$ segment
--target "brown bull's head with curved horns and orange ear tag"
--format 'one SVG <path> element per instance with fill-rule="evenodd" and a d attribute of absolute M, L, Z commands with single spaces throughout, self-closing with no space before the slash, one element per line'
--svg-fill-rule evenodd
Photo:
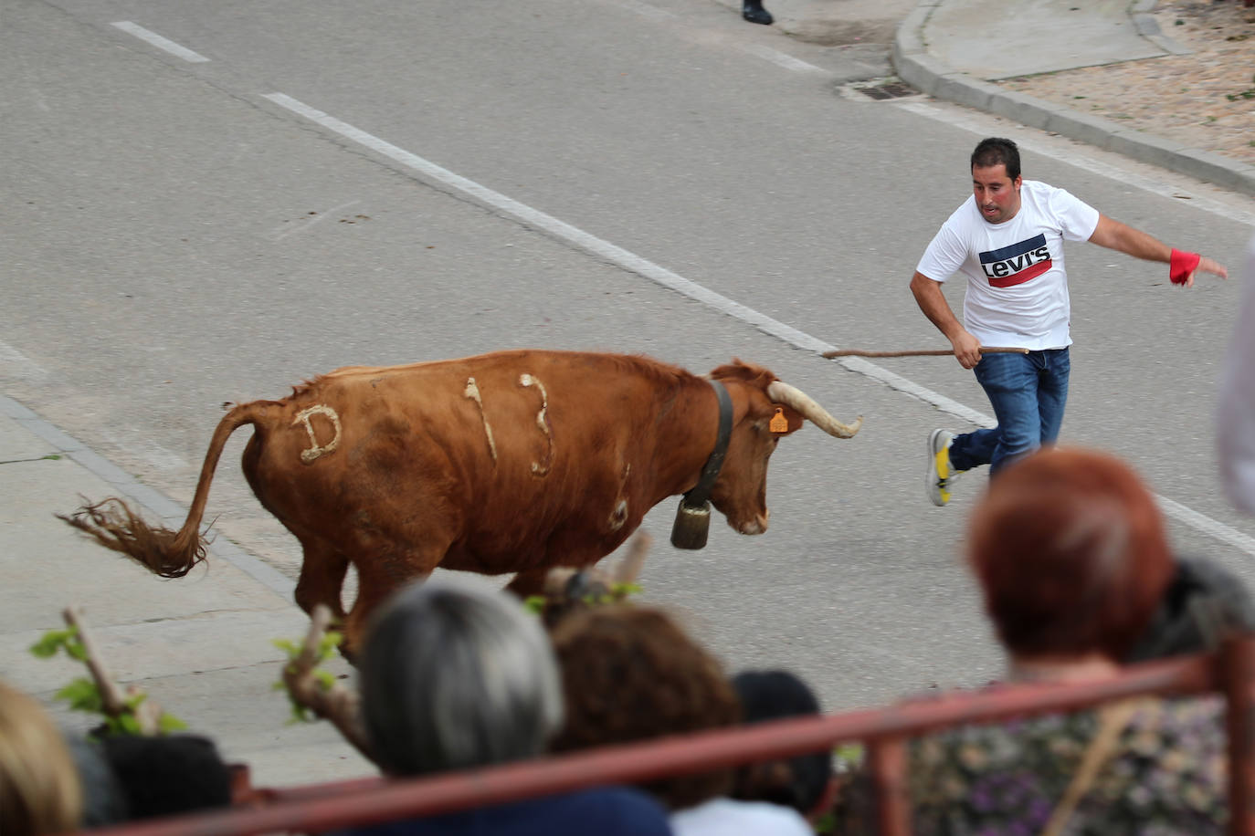
<path fill-rule="evenodd" d="M 767 462 L 781 436 L 802 429 L 804 420 L 838 439 L 852 437 L 862 416 L 852 425 L 832 417 L 806 392 L 776 379 L 759 366 L 733 360 L 710 372 L 728 389 L 733 401 L 732 439 L 710 501 L 742 534 L 767 530 Z"/>

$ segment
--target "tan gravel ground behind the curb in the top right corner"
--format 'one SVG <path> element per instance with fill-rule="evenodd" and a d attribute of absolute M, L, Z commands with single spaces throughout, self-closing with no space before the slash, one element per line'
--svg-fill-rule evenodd
<path fill-rule="evenodd" d="M 1152 13 L 1165 35 L 1192 50 L 1103 66 L 1008 79 L 1048 102 L 1255 164 L 1255 6 L 1178 0 Z"/>

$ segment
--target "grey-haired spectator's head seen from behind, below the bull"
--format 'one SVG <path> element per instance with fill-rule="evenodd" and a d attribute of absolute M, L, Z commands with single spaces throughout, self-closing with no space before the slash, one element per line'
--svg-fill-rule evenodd
<path fill-rule="evenodd" d="M 562 721 L 548 638 L 499 592 L 405 588 L 374 618 L 360 678 L 366 734 L 392 775 L 533 757 Z"/>

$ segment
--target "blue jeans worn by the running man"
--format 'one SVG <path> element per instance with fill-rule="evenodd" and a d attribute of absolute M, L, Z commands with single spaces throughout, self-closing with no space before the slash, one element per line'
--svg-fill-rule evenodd
<path fill-rule="evenodd" d="M 954 436 L 950 464 L 956 470 L 989 465 L 993 476 L 1018 456 L 1054 444 L 1068 401 L 1071 370 L 1067 348 L 981 357 L 974 371 L 998 426 Z"/>

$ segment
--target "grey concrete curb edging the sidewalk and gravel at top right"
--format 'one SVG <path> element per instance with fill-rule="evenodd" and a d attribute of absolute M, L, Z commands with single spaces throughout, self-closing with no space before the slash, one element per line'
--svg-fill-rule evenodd
<path fill-rule="evenodd" d="M 954 70 L 930 55 L 924 40 L 924 26 L 932 13 L 945 3 L 946 0 L 920 0 L 897 28 L 891 59 L 897 76 L 911 86 L 937 99 L 985 110 L 1014 119 L 1029 128 L 1049 130 L 1131 159 L 1255 196 L 1255 165 L 1141 130 L 1130 130 L 1109 119 L 1043 102 L 1023 93 L 1004 90 L 996 84 Z M 1156 0 L 1138 0 L 1132 6 L 1135 26 L 1156 45 L 1170 53 L 1181 54 L 1185 50 L 1160 34 L 1155 19 L 1146 14 L 1155 5 Z"/>

